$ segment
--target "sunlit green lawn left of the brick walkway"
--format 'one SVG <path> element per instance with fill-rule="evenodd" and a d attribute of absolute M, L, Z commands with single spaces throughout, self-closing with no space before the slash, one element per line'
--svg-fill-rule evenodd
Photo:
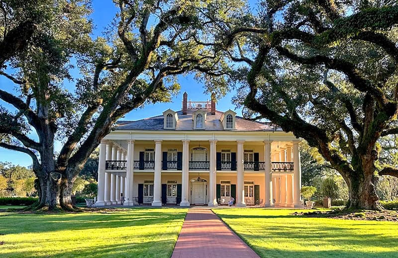
<path fill-rule="evenodd" d="M 179 208 L 0 213 L 0 257 L 168 258 L 186 213 Z"/>

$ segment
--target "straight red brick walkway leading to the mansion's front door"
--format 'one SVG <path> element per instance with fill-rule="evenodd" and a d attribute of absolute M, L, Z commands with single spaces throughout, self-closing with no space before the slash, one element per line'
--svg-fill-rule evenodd
<path fill-rule="evenodd" d="M 233 233 L 210 209 L 188 210 L 172 258 L 259 256 Z"/>

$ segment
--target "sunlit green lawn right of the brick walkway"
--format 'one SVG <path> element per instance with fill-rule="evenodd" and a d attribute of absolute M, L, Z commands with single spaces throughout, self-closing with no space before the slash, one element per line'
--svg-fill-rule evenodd
<path fill-rule="evenodd" d="M 294 210 L 213 211 L 261 257 L 398 257 L 398 222 L 304 218 L 290 215 Z"/>

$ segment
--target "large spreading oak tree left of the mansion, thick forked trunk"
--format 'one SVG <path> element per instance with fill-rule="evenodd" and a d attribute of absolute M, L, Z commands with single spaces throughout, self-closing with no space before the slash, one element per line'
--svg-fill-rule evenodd
<path fill-rule="evenodd" d="M 206 2 L 115 0 L 119 11 L 106 38 L 95 40 L 89 0 L 48 0 L 34 6 L 14 2 L 1 1 L 1 44 L 15 49 L 15 55 L 0 53 L 0 61 L 8 65 L 0 73 L 10 81 L 1 86 L 0 99 L 14 108 L 0 110 L 0 147 L 31 157 L 40 188 L 33 208 L 73 209 L 73 182 L 101 139 L 127 112 L 170 100 L 179 88 L 176 75 L 196 71 L 207 81 L 224 83 L 219 72 L 224 64 L 191 37 L 200 34 L 196 10 Z M 36 30 L 26 32 L 24 24 L 10 24 L 6 18 L 17 8 L 46 15 L 42 23 L 33 22 Z M 12 30 L 27 34 L 24 46 L 7 43 Z M 80 76 L 73 78 L 71 71 L 77 70 Z M 70 91 L 65 82 L 73 79 L 77 83 Z M 56 140 L 62 142 L 59 153 L 54 152 Z"/>

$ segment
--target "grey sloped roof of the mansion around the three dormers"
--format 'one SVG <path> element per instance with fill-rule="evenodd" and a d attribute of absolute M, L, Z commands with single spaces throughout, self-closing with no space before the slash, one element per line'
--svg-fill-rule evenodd
<path fill-rule="evenodd" d="M 164 129 L 163 115 L 149 117 L 137 121 L 118 121 L 115 130 L 146 130 L 146 131 L 282 131 L 270 123 L 251 121 L 240 116 L 235 116 L 235 129 L 224 130 L 220 121 L 223 114 L 221 111 L 215 111 L 215 115 L 206 112 L 205 129 L 194 129 L 192 113 L 195 110 L 188 110 L 186 115 L 183 111 L 177 111 L 178 121 L 176 129 Z"/>

